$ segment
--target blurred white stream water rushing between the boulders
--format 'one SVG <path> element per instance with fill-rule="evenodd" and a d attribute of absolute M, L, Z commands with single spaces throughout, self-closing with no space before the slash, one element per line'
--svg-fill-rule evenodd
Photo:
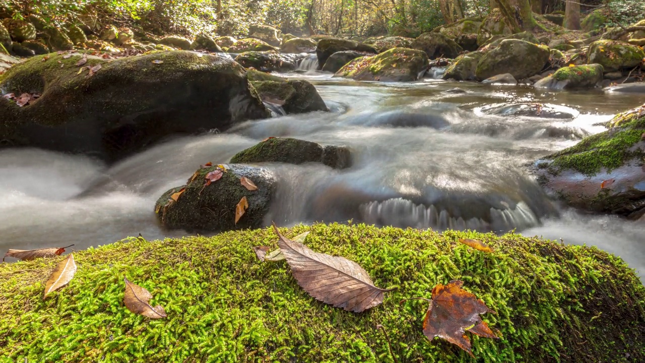
<path fill-rule="evenodd" d="M 527 166 L 600 132 L 598 123 L 642 104 L 641 97 L 435 79 L 355 82 L 312 71 L 313 63 L 313 57 L 303 59 L 301 70 L 288 76 L 312 81 L 333 112 L 175 138 L 111 167 L 45 150 L 1 150 L 0 250 L 83 249 L 139 233 L 149 239 L 185 235 L 155 222 L 154 203 L 164 191 L 207 161 L 226 163 L 268 136 L 290 136 L 348 145 L 353 165 L 342 171 L 268 165 L 281 183 L 267 223 L 353 219 L 495 233 L 515 229 L 596 245 L 645 276 L 642 223 L 559 206 Z"/>

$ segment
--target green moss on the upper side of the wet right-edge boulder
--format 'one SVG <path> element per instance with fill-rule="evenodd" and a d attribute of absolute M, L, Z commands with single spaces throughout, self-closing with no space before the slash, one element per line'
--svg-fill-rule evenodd
<path fill-rule="evenodd" d="M 644 132 L 645 116 L 639 116 L 638 112 L 619 114 L 611 121 L 609 130 L 548 156 L 546 159 L 553 159 L 550 171 L 573 169 L 589 176 L 603 169 L 610 172 L 628 160 L 645 156 L 639 149 L 630 149 L 642 140 Z"/>

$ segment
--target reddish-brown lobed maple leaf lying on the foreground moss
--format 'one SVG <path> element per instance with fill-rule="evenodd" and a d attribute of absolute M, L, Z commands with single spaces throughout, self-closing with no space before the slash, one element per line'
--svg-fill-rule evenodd
<path fill-rule="evenodd" d="M 488 309 L 474 294 L 462 289 L 463 284 L 463 281 L 453 280 L 448 285 L 437 284 L 432 289 L 432 302 L 423 320 L 423 334 L 429 340 L 435 337 L 448 340 L 475 357 L 466 331 L 480 337 L 497 338 L 479 316 L 494 311 Z"/>

